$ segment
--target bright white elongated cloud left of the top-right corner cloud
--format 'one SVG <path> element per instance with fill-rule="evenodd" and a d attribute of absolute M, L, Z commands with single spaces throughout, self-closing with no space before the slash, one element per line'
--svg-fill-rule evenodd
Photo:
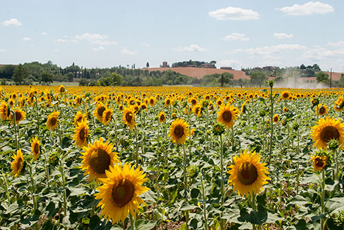
<path fill-rule="evenodd" d="M 209 16 L 213 16 L 219 21 L 234 20 L 248 21 L 259 19 L 259 14 L 253 10 L 245 10 L 242 8 L 228 7 L 209 12 Z"/>

